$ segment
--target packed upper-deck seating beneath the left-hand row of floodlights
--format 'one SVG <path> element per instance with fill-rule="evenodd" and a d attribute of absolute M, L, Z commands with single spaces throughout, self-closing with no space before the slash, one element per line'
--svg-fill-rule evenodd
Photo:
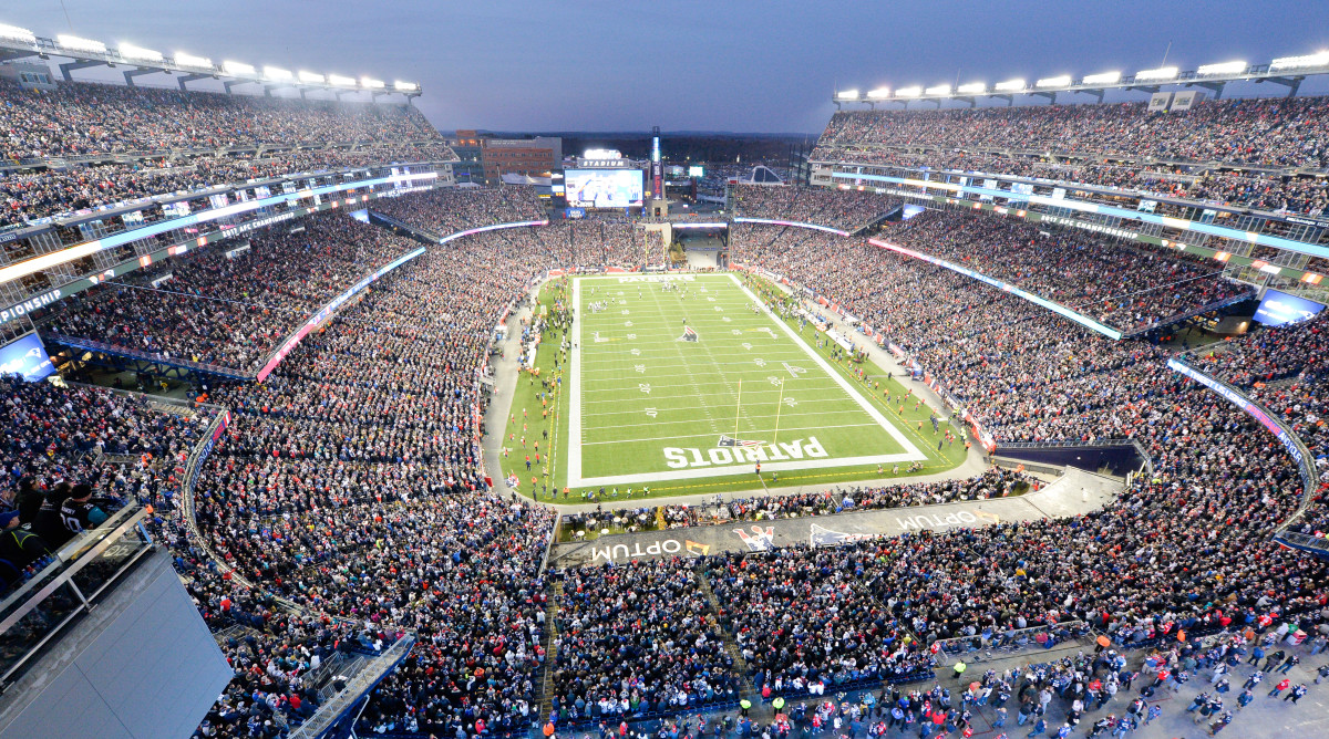
<path fill-rule="evenodd" d="M 307 147 L 307 149 L 300 149 Z M 411 106 L 0 80 L 0 228 L 149 195 L 456 155 Z"/>

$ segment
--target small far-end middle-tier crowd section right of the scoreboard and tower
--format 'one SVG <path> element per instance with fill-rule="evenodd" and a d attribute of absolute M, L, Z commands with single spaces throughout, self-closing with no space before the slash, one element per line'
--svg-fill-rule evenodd
<path fill-rule="evenodd" d="M 734 188 L 734 212 L 740 216 L 793 220 L 857 231 L 898 206 L 876 192 L 789 187 L 772 184 L 739 184 Z"/>

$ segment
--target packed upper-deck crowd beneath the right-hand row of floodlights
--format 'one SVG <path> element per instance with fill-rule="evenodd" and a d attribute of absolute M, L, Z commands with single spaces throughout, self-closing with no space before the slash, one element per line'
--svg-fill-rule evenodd
<path fill-rule="evenodd" d="M 1320 215 L 1329 203 L 1322 178 L 1191 171 L 1185 163 L 1322 170 L 1325 101 L 1204 101 L 1172 113 L 1150 113 L 1144 103 L 841 111 L 812 159 L 1034 176 Z M 1122 161 L 1102 162 L 1104 155 Z"/>

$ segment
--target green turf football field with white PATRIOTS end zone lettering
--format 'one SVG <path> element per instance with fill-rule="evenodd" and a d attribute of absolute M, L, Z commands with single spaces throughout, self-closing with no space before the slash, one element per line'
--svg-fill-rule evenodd
<path fill-rule="evenodd" d="M 541 399 L 541 385 L 521 378 L 508 429 L 505 472 L 522 492 L 534 478 L 538 491 L 571 488 L 569 502 L 601 487 L 610 500 L 615 488 L 641 498 L 643 486 L 686 495 L 890 476 L 896 466 L 902 475 L 910 462 L 937 472 L 964 458 L 962 437 L 938 452 L 930 409 L 912 399 L 898 413 L 898 382 L 870 364 L 857 377 L 825 334 L 762 308 L 735 276 L 562 284 L 578 317 L 569 350 L 560 353 L 561 333 L 546 334 L 537 361 L 560 382 Z M 553 299 L 546 289 L 542 300 Z"/>

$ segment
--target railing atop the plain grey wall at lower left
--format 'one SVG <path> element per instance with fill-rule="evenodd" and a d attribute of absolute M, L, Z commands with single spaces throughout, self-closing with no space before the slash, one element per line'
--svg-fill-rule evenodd
<path fill-rule="evenodd" d="M 0 602 L 0 686 L 8 686 L 48 643 L 153 549 L 141 521 L 148 508 L 126 505 L 60 548 Z"/>

